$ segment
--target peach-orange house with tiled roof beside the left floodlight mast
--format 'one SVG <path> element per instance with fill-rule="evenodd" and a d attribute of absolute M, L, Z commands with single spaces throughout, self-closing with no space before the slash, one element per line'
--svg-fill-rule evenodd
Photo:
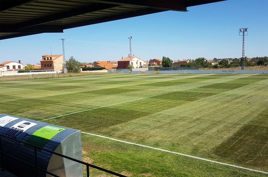
<path fill-rule="evenodd" d="M 63 70 L 63 55 L 43 55 L 40 61 L 42 70 Z"/>

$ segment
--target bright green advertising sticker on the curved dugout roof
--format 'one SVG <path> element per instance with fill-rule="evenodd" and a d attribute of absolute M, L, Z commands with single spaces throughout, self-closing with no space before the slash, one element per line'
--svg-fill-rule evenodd
<path fill-rule="evenodd" d="M 44 147 L 46 143 L 51 140 L 56 134 L 60 133 L 65 129 L 54 126 L 44 126 L 41 129 L 35 131 L 26 141 L 27 143 Z"/>

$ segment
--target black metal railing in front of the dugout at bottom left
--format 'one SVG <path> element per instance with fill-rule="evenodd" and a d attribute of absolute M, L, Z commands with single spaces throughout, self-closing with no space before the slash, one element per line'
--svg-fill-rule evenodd
<path fill-rule="evenodd" d="M 14 156 L 12 156 L 12 155 L 10 155 L 10 154 L 4 153 L 4 152 L 2 151 L 1 137 L 6 137 L 6 138 L 8 138 L 8 139 L 10 139 L 10 140 L 14 140 L 14 141 L 23 143 L 24 145 L 28 145 L 28 146 L 33 147 L 33 148 L 34 148 L 34 151 L 35 151 L 35 165 L 30 164 L 30 163 L 28 163 L 28 162 L 25 162 L 24 160 L 18 159 L 18 158 L 14 157 Z M 86 163 L 86 162 L 83 162 L 83 161 L 80 161 L 80 160 L 77 160 L 77 159 L 74 159 L 74 158 L 71 158 L 71 157 L 68 157 L 68 156 L 59 154 L 59 153 L 56 153 L 56 152 L 53 152 L 53 151 L 49 151 L 49 150 L 44 149 L 44 148 L 41 148 L 41 147 L 39 147 L 39 146 L 32 145 L 32 144 L 29 144 L 29 143 L 27 143 L 27 142 L 23 142 L 23 141 L 20 141 L 20 140 L 16 140 L 16 139 L 14 139 L 14 138 L 11 138 L 11 137 L 8 137 L 8 136 L 1 135 L 1 134 L 0 134 L 0 164 L 1 164 L 1 165 L 3 165 L 3 162 L 2 162 L 2 161 L 3 161 L 3 160 L 2 160 L 3 158 L 2 158 L 2 157 L 3 157 L 3 154 L 4 154 L 4 155 L 6 155 L 6 156 L 10 156 L 10 157 L 12 157 L 12 158 L 14 158 L 14 159 L 16 159 L 16 160 L 19 160 L 19 161 L 21 161 L 21 162 L 24 162 L 24 163 L 26 163 L 27 165 L 30 165 L 30 166 L 32 166 L 32 167 L 35 167 L 35 169 L 36 169 L 36 176 L 39 176 L 39 170 L 40 170 L 40 171 L 43 171 L 43 172 L 45 172 L 45 173 L 47 173 L 47 174 L 49 174 L 49 175 L 51 175 L 51 176 L 58 177 L 57 175 L 55 175 L 55 174 L 53 174 L 53 173 L 50 173 L 49 171 L 47 171 L 47 170 L 43 170 L 43 169 L 41 169 L 41 168 L 38 167 L 37 149 L 40 149 L 40 150 L 43 150 L 43 151 L 46 151 L 46 152 L 55 154 L 55 155 L 57 155 L 57 156 L 60 156 L 60 157 L 63 157 L 63 158 L 69 159 L 69 160 L 72 160 L 72 161 L 77 162 L 77 163 L 80 163 L 80 164 L 82 164 L 82 165 L 86 165 L 86 167 L 87 167 L 87 177 L 89 177 L 89 167 L 92 167 L 92 168 L 101 170 L 101 171 L 106 172 L 106 173 L 110 173 L 110 174 L 115 175 L 115 176 L 126 177 L 126 176 L 121 175 L 121 174 L 119 174 L 119 173 L 115 173 L 115 172 L 113 172 L 113 171 L 106 170 L 106 169 L 104 169 L 104 168 L 102 168 L 102 167 L 98 167 L 98 166 L 96 166 L 96 165 L 92 165 L 92 164 L 89 164 L 89 163 Z"/>

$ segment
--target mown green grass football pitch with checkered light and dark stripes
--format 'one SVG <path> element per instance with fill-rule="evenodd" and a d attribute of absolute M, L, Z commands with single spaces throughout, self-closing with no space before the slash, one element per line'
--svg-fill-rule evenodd
<path fill-rule="evenodd" d="M 93 109 L 101 106 L 106 107 Z M 79 113 L 44 122 L 268 172 L 267 74 L 0 82 L 2 114 L 40 121 L 73 112 Z M 267 176 L 88 134 L 82 134 L 82 148 L 86 162 L 128 176 Z M 91 176 L 98 175 L 105 176 L 91 169 Z"/>

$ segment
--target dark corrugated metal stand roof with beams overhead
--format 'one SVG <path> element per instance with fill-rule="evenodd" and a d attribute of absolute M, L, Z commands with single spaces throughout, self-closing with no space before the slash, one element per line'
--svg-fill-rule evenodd
<path fill-rule="evenodd" d="M 1 0 L 0 40 L 224 0 Z"/>

